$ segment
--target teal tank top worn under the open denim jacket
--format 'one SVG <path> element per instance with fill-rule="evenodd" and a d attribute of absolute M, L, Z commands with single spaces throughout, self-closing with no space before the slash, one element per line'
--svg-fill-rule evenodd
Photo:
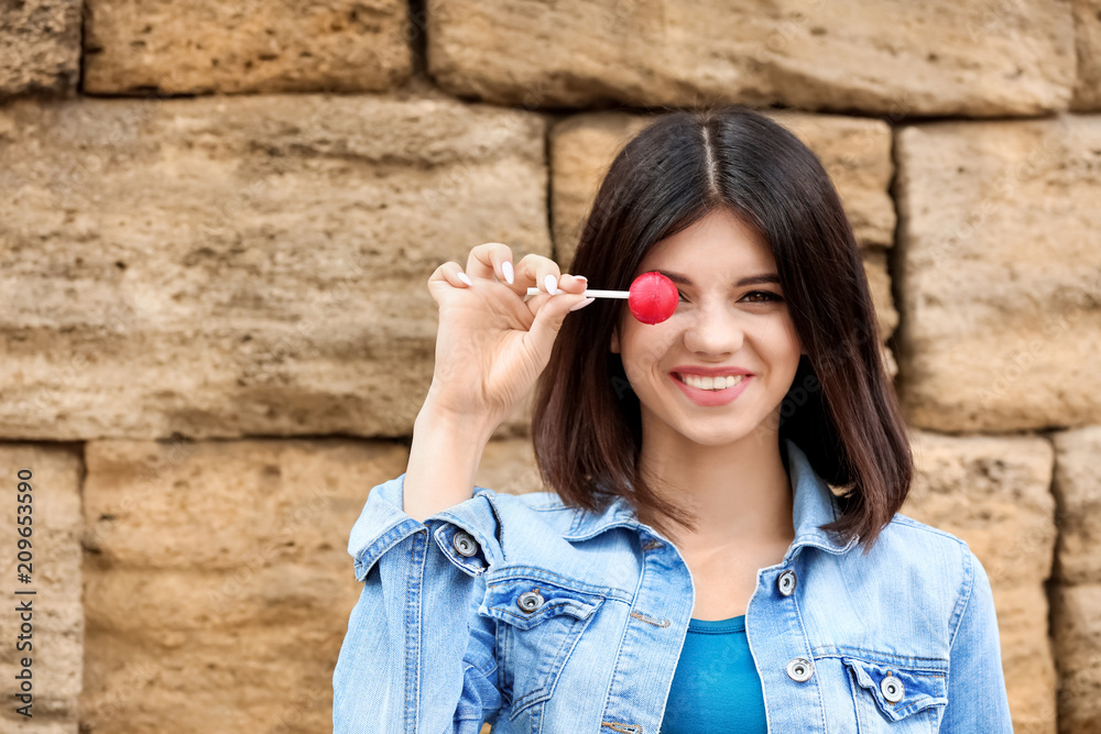
<path fill-rule="evenodd" d="M 659 734 L 766 734 L 745 615 L 690 620 Z"/>

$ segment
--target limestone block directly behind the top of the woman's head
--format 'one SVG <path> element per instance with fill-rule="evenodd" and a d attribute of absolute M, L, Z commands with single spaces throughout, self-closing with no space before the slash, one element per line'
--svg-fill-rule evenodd
<path fill-rule="evenodd" d="M 879 120 L 772 112 L 815 152 L 844 202 L 861 245 L 890 247 L 895 212 L 889 188 L 891 129 Z M 592 200 L 612 160 L 654 118 L 622 112 L 578 114 L 550 129 L 555 253 L 573 260 Z"/>

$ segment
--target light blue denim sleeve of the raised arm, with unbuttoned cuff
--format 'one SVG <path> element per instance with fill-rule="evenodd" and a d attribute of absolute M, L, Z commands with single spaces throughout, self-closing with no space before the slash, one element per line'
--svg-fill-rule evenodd
<path fill-rule="evenodd" d="M 494 495 L 475 487 L 421 523 L 402 511 L 404 480 L 371 490 L 348 541 L 363 590 L 333 673 L 333 731 L 477 734 L 501 708 L 495 629 L 477 613 L 502 560 Z"/>

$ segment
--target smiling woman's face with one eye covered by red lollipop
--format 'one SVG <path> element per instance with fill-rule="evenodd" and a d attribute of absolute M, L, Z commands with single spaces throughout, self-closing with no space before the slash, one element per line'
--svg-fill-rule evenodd
<path fill-rule="evenodd" d="M 676 313 L 650 326 L 624 306 L 612 335 L 644 441 L 726 446 L 775 432 L 803 348 L 766 242 L 718 210 L 651 248 L 635 276 L 648 271 L 676 284 Z"/>

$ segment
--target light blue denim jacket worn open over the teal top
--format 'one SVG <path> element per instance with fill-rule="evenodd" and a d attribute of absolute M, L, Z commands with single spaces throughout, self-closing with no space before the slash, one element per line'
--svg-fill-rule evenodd
<path fill-rule="evenodd" d="M 1012 732 L 990 583 L 968 546 L 902 515 L 866 555 L 839 545 L 819 529 L 829 487 L 786 449 L 796 537 L 745 611 L 768 731 Z M 475 487 L 419 523 L 403 480 L 375 486 L 351 530 L 364 583 L 334 731 L 657 734 L 694 609 L 676 547 L 623 500 L 588 513 Z"/>

